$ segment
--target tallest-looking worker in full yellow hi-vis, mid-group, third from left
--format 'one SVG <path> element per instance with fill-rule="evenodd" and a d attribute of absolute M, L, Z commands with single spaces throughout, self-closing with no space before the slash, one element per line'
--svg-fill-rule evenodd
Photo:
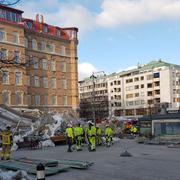
<path fill-rule="evenodd" d="M 91 121 L 88 122 L 87 138 L 89 141 L 89 151 L 95 151 L 96 150 L 96 127 Z"/>

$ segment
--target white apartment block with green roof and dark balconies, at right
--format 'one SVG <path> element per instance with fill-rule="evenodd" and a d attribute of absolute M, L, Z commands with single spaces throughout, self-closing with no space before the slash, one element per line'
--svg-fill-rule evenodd
<path fill-rule="evenodd" d="M 171 110 L 180 107 L 179 65 L 151 61 L 129 71 L 110 74 L 105 81 L 110 117 L 138 117 L 156 114 L 162 106 Z"/>

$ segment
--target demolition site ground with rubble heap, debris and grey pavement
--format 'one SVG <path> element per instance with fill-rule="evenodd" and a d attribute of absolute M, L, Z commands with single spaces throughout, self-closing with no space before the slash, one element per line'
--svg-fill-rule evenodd
<path fill-rule="evenodd" d="M 46 179 L 52 180 L 178 180 L 180 176 L 178 135 L 133 135 L 123 131 L 121 124 L 112 122 L 113 145 L 107 147 L 102 137 L 102 145 L 89 152 L 86 139 L 82 151 L 74 145 L 73 152 L 68 153 L 65 129 L 67 123 L 78 121 L 72 114 L 20 112 L 1 105 L 0 118 L 1 129 L 9 125 L 13 134 L 11 159 L 0 162 L 1 179 L 36 179 L 39 163 L 45 166 Z M 87 123 L 81 124 L 86 127 Z M 104 124 L 100 125 L 103 129 Z"/>

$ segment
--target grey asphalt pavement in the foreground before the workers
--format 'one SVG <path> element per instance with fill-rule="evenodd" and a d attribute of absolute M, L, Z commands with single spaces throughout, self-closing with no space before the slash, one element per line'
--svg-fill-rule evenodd
<path fill-rule="evenodd" d="M 128 148 L 133 157 L 120 157 Z M 96 152 L 66 152 L 66 146 L 43 150 L 17 151 L 14 157 L 77 159 L 95 164 L 88 170 L 70 169 L 47 180 L 180 180 L 180 149 L 137 144 L 121 140 L 112 147 L 98 147 Z"/>

